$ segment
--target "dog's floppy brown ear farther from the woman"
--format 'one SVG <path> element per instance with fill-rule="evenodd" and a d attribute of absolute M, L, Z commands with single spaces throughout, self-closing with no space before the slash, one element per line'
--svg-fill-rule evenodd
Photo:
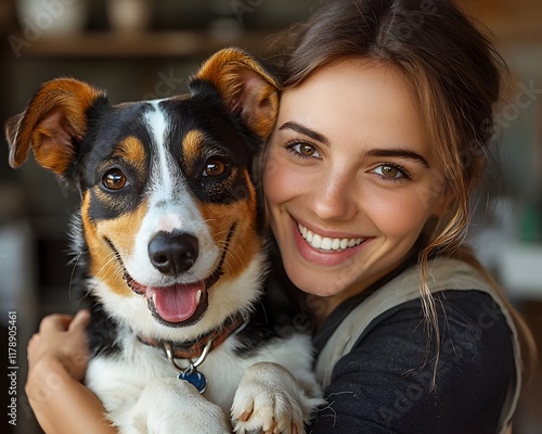
<path fill-rule="evenodd" d="M 30 146 L 36 161 L 64 176 L 87 130 L 87 111 L 105 94 L 85 82 L 59 78 L 47 81 L 26 110 L 8 120 L 10 165 L 21 166 Z"/>

